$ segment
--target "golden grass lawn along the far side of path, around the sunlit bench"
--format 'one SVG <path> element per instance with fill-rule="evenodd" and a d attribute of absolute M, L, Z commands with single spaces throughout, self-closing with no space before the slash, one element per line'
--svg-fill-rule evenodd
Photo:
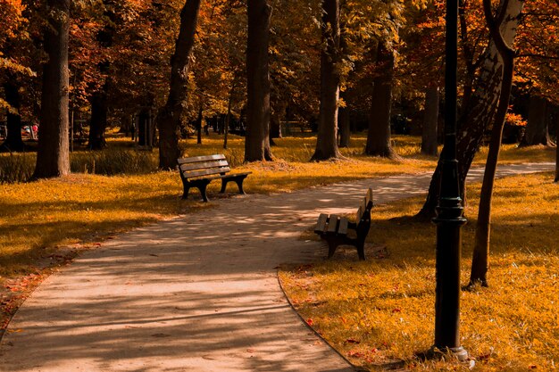
<path fill-rule="evenodd" d="M 343 161 L 309 162 L 316 138 L 285 137 L 277 139 L 277 146 L 272 148 L 278 161 L 247 165 L 242 164 L 242 137 L 229 136 L 228 150 L 222 149 L 222 136 L 215 134 L 204 136 L 202 145 L 196 145 L 194 139 L 181 145 L 186 156 L 225 153 L 234 171 L 252 171 L 245 181 L 249 194 L 289 192 L 351 179 L 432 171 L 436 166 L 437 158 L 420 154 L 418 137 L 394 137 L 400 161 L 363 156 L 365 140 L 364 134 L 355 135 L 351 147 L 342 149 L 346 156 Z M 487 149 L 480 151 L 477 164 L 483 163 L 486 153 Z M 554 156 L 553 150 L 515 149 L 513 145 L 506 145 L 502 153 L 503 162 L 553 161 Z M 18 172 L 21 179 L 29 177 L 34 164 L 35 153 L 0 154 L 0 182 L 3 172 L 8 171 Z M 156 150 L 137 152 L 129 139 L 116 134 L 109 138 L 109 146 L 102 152 L 79 149 L 72 153 L 71 164 L 74 173 L 67 178 L 0 185 L 0 288 L 20 293 L 25 288 L 13 285 L 12 281 L 21 284 L 21 278 L 29 278 L 32 282 L 45 267 L 65 262 L 68 255 L 60 253 L 63 247 L 95 247 L 99 240 L 130 228 L 219 205 L 219 201 L 195 201 L 197 190 L 191 193 L 190 200 L 180 200 L 178 172 L 155 171 Z M 213 182 L 208 189 L 213 201 L 219 200 L 219 186 L 219 182 Z M 233 190 L 234 185 L 231 187 Z M 6 309 L 14 305 L 2 296 L 2 309 L 11 313 Z"/>

